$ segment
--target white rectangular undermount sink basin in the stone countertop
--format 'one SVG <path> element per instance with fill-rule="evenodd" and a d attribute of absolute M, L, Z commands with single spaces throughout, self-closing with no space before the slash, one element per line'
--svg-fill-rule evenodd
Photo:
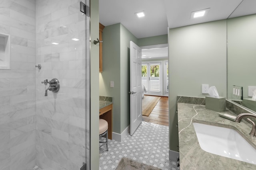
<path fill-rule="evenodd" d="M 202 123 L 193 125 L 204 151 L 256 164 L 256 149 L 235 130 Z"/>

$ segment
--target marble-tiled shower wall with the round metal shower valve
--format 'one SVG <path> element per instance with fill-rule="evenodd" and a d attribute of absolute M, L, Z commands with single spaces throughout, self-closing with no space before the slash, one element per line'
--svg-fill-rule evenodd
<path fill-rule="evenodd" d="M 44 170 L 78 170 L 86 159 L 85 17 L 78 0 L 36 0 L 36 164 Z M 44 96 L 41 82 L 52 78 L 60 90 Z"/>

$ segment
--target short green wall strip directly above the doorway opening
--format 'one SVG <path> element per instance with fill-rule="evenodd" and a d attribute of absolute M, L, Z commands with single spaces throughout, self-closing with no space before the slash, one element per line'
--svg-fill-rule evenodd
<path fill-rule="evenodd" d="M 158 35 L 153 37 L 146 37 L 138 39 L 138 46 L 147 46 L 147 45 L 158 45 L 158 44 L 167 44 L 168 43 L 168 35 Z"/>

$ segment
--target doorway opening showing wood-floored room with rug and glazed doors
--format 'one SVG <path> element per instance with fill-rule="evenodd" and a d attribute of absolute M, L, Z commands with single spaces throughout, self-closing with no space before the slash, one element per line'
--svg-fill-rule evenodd
<path fill-rule="evenodd" d="M 169 125 L 168 46 L 142 48 L 142 121 Z"/>

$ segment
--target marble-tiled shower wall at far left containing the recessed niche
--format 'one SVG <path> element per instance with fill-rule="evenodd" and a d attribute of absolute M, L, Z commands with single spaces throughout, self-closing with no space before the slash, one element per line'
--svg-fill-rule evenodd
<path fill-rule="evenodd" d="M 9 34 L 11 69 L 0 70 L 0 170 L 36 163 L 34 0 L 1 0 L 0 33 Z"/>

